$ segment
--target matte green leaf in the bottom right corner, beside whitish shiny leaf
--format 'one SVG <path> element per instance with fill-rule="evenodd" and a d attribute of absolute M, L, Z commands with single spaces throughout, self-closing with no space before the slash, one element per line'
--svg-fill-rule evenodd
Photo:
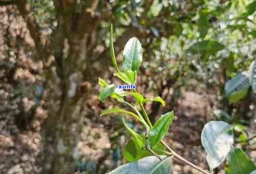
<path fill-rule="evenodd" d="M 227 157 L 226 174 L 246 174 L 256 169 L 241 148 L 233 147 Z"/>

